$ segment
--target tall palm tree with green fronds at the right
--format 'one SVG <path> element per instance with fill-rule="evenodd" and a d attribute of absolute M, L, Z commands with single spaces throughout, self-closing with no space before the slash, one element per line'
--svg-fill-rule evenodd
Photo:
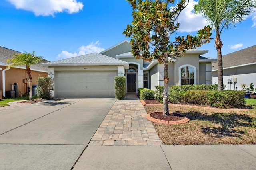
<path fill-rule="evenodd" d="M 244 16 L 250 15 L 256 8 L 256 0 L 199 0 L 194 6 L 195 13 L 202 13 L 216 31 L 215 47 L 218 62 L 218 91 L 223 90 L 223 66 L 220 35 L 223 29 L 236 27 Z"/>

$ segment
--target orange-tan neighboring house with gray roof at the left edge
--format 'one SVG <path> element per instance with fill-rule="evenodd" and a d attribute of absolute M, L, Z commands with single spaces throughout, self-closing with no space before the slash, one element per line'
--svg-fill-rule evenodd
<path fill-rule="evenodd" d="M 21 52 L 0 46 L 0 99 L 7 97 L 7 92 L 13 90 L 12 85 L 14 85 L 14 83 L 18 83 L 19 94 L 17 95 L 20 96 L 20 94 L 25 94 L 29 92 L 29 84 L 27 82 L 28 74 L 26 73 L 26 66 L 16 66 L 10 69 L 7 68 L 9 63 L 6 63 L 6 60 L 10 59 L 12 54 L 19 53 Z M 36 79 L 38 77 L 48 76 L 47 68 L 44 66 L 40 66 L 39 64 L 32 65 L 30 69 L 33 85 L 36 85 Z"/>

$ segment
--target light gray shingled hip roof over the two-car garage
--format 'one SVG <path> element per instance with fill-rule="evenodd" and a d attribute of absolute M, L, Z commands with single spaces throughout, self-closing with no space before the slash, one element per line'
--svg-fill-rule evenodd
<path fill-rule="evenodd" d="M 68 59 L 43 63 L 44 66 L 79 66 L 79 65 L 126 65 L 126 61 L 118 60 L 99 53 L 80 55 Z"/>

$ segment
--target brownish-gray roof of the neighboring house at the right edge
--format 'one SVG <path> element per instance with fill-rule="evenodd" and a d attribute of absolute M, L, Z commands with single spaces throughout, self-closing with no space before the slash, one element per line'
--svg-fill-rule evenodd
<path fill-rule="evenodd" d="M 222 56 L 223 68 L 250 64 L 256 62 L 256 45 Z M 218 63 L 212 63 L 212 70 L 218 68 Z"/>

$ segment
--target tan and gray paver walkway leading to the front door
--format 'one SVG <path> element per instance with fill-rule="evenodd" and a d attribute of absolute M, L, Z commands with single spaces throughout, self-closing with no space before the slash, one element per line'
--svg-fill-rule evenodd
<path fill-rule="evenodd" d="M 116 100 L 89 145 L 162 145 L 136 94 Z"/>

